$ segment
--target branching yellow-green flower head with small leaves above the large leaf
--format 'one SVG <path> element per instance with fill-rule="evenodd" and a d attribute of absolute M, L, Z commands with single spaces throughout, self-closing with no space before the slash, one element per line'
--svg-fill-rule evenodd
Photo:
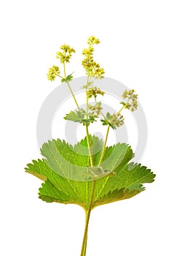
<path fill-rule="evenodd" d="M 79 122 L 88 127 L 90 123 L 97 121 L 97 118 L 100 118 L 101 116 L 101 122 L 103 125 L 107 125 L 108 127 L 110 126 L 112 129 L 117 129 L 117 127 L 121 127 L 124 124 L 124 117 L 122 116 L 121 111 L 124 108 L 131 111 L 137 109 L 138 95 L 134 94 L 135 91 L 133 89 L 129 91 L 125 90 L 122 94 L 122 97 L 125 101 L 120 102 L 123 105 L 122 108 L 117 113 L 103 114 L 101 101 L 97 102 L 97 97 L 98 95 L 103 96 L 105 92 L 101 91 L 101 89 L 97 88 L 96 86 L 93 86 L 93 81 L 97 79 L 102 79 L 105 73 L 104 69 L 93 58 L 94 46 L 98 45 L 99 43 L 100 40 L 92 36 L 87 39 L 88 48 L 84 48 L 84 50 L 82 50 L 82 55 L 84 56 L 84 59 L 82 60 L 82 66 L 84 67 L 87 75 L 87 83 L 83 86 L 83 88 L 86 89 L 87 108 L 86 110 L 79 109 L 76 98 L 74 97 L 74 94 L 72 94 L 78 110 L 68 113 L 65 119 Z M 66 63 L 70 61 L 72 53 L 75 53 L 75 50 L 69 45 L 62 45 L 60 49 L 62 51 L 57 53 L 57 58 L 60 59 L 60 63 L 63 64 L 64 75 L 62 77 L 60 75 L 61 72 L 59 67 L 53 65 L 49 69 L 47 77 L 48 80 L 53 81 L 55 80 L 56 76 L 58 76 L 59 78 L 61 78 L 62 83 L 66 82 L 69 86 L 69 82 L 73 79 L 73 76 L 72 74 L 66 75 Z M 88 103 L 90 98 L 93 98 L 95 100 L 94 104 Z"/>

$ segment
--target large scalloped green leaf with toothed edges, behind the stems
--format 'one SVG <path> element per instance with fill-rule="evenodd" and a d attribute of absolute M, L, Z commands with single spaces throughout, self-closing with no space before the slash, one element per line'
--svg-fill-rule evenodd
<path fill-rule="evenodd" d="M 25 168 L 27 173 L 44 181 L 39 198 L 47 203 L 75 203 L 87 210 L 93 184 L 92 208 L 95 208 L 133 197 L 145 189 L 144 183 L 154 181 L 151 170 L 129 163 L 133 151 L 125 143 L 107 147 L 100 166 L 103 141 L 90 136 L 90 145 L 94 167 L 90 167 L 87 138 L 75 146 L 59 139 L 44 143 L 41 152 L 45 158 L 34 160 Z"/>

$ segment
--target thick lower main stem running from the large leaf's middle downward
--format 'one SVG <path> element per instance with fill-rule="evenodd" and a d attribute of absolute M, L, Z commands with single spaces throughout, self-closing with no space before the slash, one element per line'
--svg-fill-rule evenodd
<path fill-rule="evenodd" d="M 85 227 L 84 227 L 84 238 L 82 241 L 82 250 L 81 250 L 81 255 L 80 256 L 85 256 L 86 255 L 86 247 L 87 247 L 87 233 L 88 233 L 88 226 L 90 222 L 90 213 L 92 210 L 92 203 L 95 195 L 95 184 L 96 181 L 93 181 L 93 187 L 92 187 L 92 195 L 90 199 L 90 207 L 88 208 L 87 211 L 85 211 L 86 214 L 86 222 L 85 222 Z"/>

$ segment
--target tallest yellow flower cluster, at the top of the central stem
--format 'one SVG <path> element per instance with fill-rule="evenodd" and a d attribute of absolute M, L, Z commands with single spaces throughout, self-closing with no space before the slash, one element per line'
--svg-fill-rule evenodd
<path fill-rule="evenodd" d="M 90 37 L 87 39 L 87 44 L 89 48 L 84 48 L 82 54 L 84 55 L 84 59 L 82 60 L 82 66 L 84 67 L 86 74 L 95 79 L 103 78 L 104 69 L 100 67 L 100 64 L 96 63 L 93 59 L 94 45 L 98 45 L 100 43 L 99 39 L 95 37 Z"/>

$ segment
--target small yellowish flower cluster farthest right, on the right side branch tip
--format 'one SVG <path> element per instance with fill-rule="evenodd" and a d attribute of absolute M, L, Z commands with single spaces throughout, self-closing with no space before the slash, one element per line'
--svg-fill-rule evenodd
<path fill-rule="evenodd" d="M 127 99 L 127 102 L 122 102 L 123 105 L 125 105 L 125 108 L 130 109 L 131 111 L 134 111 L 138 108 L 138 94 L 134 94 L 134 90 L 125 90 L 122 94 L 123 99 Z"/>

